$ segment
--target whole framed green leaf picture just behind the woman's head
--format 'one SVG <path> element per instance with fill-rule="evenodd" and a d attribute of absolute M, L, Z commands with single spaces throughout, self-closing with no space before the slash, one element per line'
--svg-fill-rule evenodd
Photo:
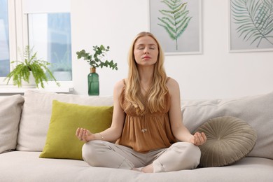
<path fill-rule="evenodd" d="M 165 55 L 202 54 L 202 1 L 182 1 L 181 6 L 182 8 L 180 10 L 183 15 L 178 16 L 179 18 L 174 18 L 174 16 L 172 16 L 172 20 L 181 20 L 181 24 L 179 25 L 184 29 L 176 28 L 168 22 L 167 19 L 170 18 L 170 14 L 174 15 L 174 13 L 169 13 L 169 15 L 166 13 L 166 10 L 172 9 L 170 9 L 164 1 L 149 0 L 149 29 L 151 33 L 158 38 L 158 41 L 160 41 L 160 45 L 162 45 Z M 172 6 L 172 8 L 174 8 L 174 6 Z M 176 10 L 177 9 L 178 8 L 176 8 Z M 162 13 L 164 10 L 165 14 Z M 165 20 L 166 23 L 162 22 Z M 188 21 L 188 25 L 182 23 L 182 21 Z M 175 39 L 172 39 L 170 33 L 163 26 L 171 26 L 172 28 L 176 28 L 176 30 L 183 32 L 179 36 L 174 36 L 174 34 L 172 34 L 172 37 L 175 37 Z"/>

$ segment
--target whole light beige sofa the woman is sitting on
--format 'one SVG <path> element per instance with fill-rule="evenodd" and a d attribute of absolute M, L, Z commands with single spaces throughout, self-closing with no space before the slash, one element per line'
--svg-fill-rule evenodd
<path fill-rule="evenodd" d="M 54 99 L 90 106 L 113 104 L 112 97 L 31 90 L 24 96 L 1 97 L 0 181 L 273 181 L 273 92 L 235 99 L 182 101 L 183 123 L 190 132 L 211 118 L 234 116 L 251 125 L 258 139 L 253 150 L 235 164 L 159 174 L 90 167 L 83 160 L 39 158 Z"/>

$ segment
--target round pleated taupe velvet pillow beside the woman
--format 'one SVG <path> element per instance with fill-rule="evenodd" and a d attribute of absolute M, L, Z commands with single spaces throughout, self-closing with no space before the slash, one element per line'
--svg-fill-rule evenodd
<path fill-rule="evenodd" d="M 232 116 L 212 118 L 195 132 L 207 136 L 207 142 L 200 146 L 200 167 L 232 165 L 251 152 L 257 140 L 251 125 Z"/>

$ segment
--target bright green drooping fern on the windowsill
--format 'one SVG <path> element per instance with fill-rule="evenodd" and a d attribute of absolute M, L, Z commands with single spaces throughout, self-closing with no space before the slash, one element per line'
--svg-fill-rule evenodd
<path fill-rule="evenodd" d="M 55 83 L 59 86 L 59 83 L 57 83 L 57 80 L 52 75 L 52 72 L 50 69 L 48 69 L 48 66 L 50 65 L 49 62 L 46 62 L 44 60 L 38 59 L 36 57 L 37 52 L 33 53 L 33 48 L 29 48 L 29 45 L 25 47 L 25 51 L 23 52 L 23 55 L 21 54 L 22 60 L 16 60 L 11 62 L 11 64 L 15 64 L 15 69 L 13 71 L 10 71 L 8 73 L 8 76 L 6 76 L 5 80 L 7 80 L 7 84 L 9 83 L 10 79 L 13 78 L 13 85 L 18 85 L 18 87 L 22 87 L 22 83 L 25 81 L 27 83 L 30 82 L 31 76 L 33 76 L 34 79 L 34 85 L 36 87 L 44 88 L 43 82 L 48 82 L 48 78 L 55 81 Z"/>

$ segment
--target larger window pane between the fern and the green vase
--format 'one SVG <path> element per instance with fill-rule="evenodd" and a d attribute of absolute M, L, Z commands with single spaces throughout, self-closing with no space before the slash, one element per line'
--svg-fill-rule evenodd
<path fill-rule="evenodd" d="M 29 45 L 50 62 L 57 80 L 71 80 L 70 13 L 29 13 Z"/>

